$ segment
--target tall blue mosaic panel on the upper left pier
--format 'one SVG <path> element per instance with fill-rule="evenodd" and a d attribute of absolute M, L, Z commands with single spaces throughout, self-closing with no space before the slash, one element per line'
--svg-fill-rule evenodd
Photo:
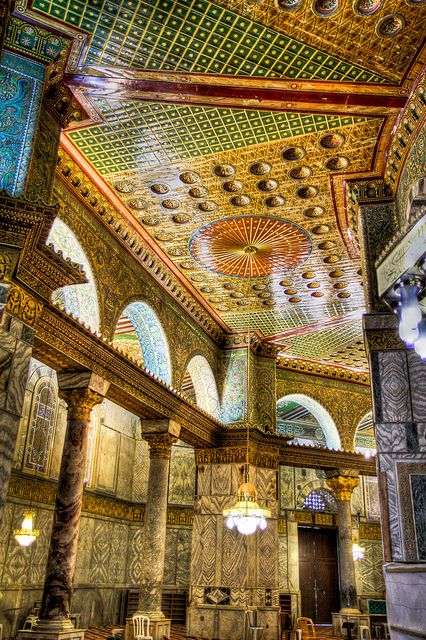
<path fill-rule="evenodd" d="M 44 67 L 3 51 L 0 58 L 0 191 L 23 193 L 41 102 Z"/>

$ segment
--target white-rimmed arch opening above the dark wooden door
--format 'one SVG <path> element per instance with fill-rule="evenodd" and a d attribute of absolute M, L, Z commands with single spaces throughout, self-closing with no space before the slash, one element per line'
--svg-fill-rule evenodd
<path fill-rule="evenodd" d="M 277 402 L 277 431 L 296 444 L 340 449 L 340 435 L 328 411 L 310 396 L 293 393 Z"/>

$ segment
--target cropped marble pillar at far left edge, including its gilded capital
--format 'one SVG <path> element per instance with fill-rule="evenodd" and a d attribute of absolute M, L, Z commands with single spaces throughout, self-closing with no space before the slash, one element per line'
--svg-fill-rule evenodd
<path fill-rule="evenodd" d="M 0 257 L 4 258 L 1 252 Z M 2 266 L 4 262 L 0 263 Z M 0 280 L 2 276 L 5 276 L 4 271 L 0 273 Z M 24 402 L 34 328 L 41 310 L 42 304 L 19 287 L 0 284 L 0 525 Z"/>

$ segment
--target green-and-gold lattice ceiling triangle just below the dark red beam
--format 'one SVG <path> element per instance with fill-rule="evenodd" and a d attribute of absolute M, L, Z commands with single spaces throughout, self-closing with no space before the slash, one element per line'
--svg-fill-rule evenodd
<path fill-rule="evenodd" d="M 93 100 L 105 124 L 69 133 L 107 176 L 363 122 L 362 117 Z M 112 153 L 114 152 L 114 153 Z"/>

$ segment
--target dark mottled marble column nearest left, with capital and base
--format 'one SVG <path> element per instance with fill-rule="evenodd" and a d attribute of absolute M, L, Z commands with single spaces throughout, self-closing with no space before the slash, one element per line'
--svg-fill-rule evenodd
<path fill-rule="evenodd" d="M 90 372 L 59 373 L 60 396 L 68 404 L 67 431 L 62 453 L 43 588 L 40 620 L 18 637 L 34 639 L 83 638 L 69 618 L 77 540 L 83 501 L 87 436 L 92 408 L 102 402 L 108 383 Z"/>

